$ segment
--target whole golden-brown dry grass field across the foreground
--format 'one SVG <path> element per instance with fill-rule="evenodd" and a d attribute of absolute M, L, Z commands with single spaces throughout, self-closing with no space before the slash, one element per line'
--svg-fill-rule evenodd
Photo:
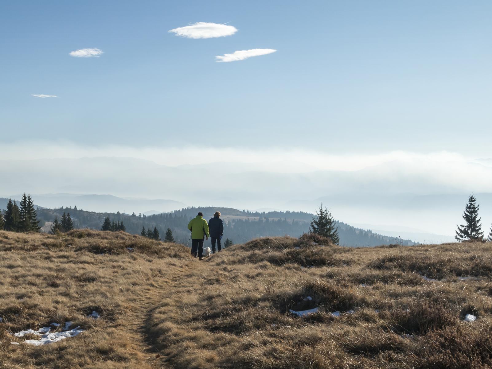
<path fill-rule="evenodd" d="M 0 368 L 491 368 L 491 251 L 303 236 L 200 262 L 123 232 L 0 231 Z M 68 320 L 85 331 L 10 334 Z"/>

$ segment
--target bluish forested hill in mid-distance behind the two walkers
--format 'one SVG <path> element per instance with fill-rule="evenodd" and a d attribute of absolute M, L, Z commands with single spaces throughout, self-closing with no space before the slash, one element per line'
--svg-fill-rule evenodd
<path fill-rule="evenodd" d="M 0 198 L 0 209 L 5 209 L 8 199 Z M 224 239 L 229 238 L 235 244 L 245 243 L 253 238 L 265 236 L 284 236 L 289 235 L 298 237 L 309 229 L 309 222 L 312 214 L 303 212 L 268 212 L 254 213 L 250 211 L 241 211 L 231 208 L 185 208 L 171 213 L 162 213 L 156 215 L 127 215 L 120 213 L 95 213 L 87 212 L 77 207 L 59 208 L 59 209 L 42 209 L 38 208 L 38 219 L 40 225 L 44 222 L 52 222 L 55 216 L 60 219 L 63 212 L 70 213 L 74 226 L 76 228 L 93 228 L 100 229 L 106 216 L 111 221 L 123 221 L 126 232 L 140 234 L 142 227 L 154 227 L 160 233 L 161 238 L 167 228 L 171 228 L 174 239 L 177 242 L 186 244 L 189 232 L 186 228 L 189 220 L 202 212 L 204 217 L 210 219 L 215 211 L 222 213 L 221 218 L 224 220 Z M 378 246 L 394 244 L 393 237 L 382 236 L 371 231 L 365 231 L 354 228 L 348 224 L 337 222 L 340 236 L 340 245 L 343 246 Z M 210 242 L 210 241 L 209 241 Z M 404 245 L 415 245 L 410 240 L 403 240 Z"/>

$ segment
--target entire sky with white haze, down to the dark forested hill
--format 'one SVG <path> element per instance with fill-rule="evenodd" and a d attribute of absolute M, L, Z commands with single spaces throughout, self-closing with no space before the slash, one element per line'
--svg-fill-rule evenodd
<path fill-rule="evenodd" d="M 488 229 L 490 14 L 485 0 L 3 1 L 0 196 L 324 202 L 354 225 L 453 235 L 474 192 Z M 251 50 L 276 52 L 216 62 Z"/>

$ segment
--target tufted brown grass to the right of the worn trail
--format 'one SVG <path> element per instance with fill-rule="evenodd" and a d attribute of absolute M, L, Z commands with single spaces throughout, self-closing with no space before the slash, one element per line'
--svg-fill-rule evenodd
<path fill-rule="evenodd" d="M 269 238 L 215 255 L 154 309 L 156 350 L 174 368 L 490 368 L 491 244 L 318 245 Z"/>

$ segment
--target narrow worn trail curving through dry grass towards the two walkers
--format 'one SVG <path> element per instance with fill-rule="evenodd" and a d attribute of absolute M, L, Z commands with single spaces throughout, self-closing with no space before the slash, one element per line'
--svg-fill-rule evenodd
<path fill-rule="evenodd" d="M 121 321 L 121 327 L 128 332 L 139 346 L 141 353 L 141 369 L 171 368 L 165 363 L 165 357 L 154 349 L 154 341 L 149 337 L 147 321 L 155 307 L 162 301 L 164 294 L 173 293 L 175 283 L 197 268 L 194 260 L 186 262 L 183 267 L 170 268 L 169 275 L 155 278 L 151 285 L 141 291 L 142 298 L 127 307 L 127 314 Z"/>

